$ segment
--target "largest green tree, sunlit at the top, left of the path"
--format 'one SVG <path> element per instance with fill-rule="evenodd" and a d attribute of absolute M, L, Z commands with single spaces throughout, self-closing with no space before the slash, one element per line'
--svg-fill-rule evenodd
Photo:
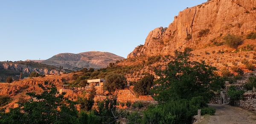
<path fill-rule="evenodd" d="M 189 61 L 189 53 L 175 51 L 175 60 L 165 70 L 158 70 L 157 87 L 154 87 L 154 99 L 160 103 L 175 99 L 191 99 L 202 96 L 209 100 L 212 92 L 210 83 L 215 80 L 215 67 L 205 62 Z M 214 82 L 213 82 L 214 83 Z"/>

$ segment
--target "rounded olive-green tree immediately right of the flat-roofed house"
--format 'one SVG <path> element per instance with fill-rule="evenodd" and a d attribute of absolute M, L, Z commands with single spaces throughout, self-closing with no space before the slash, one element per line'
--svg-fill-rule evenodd
<path fill-rule="evenodd" d="M 116 89 L 123 89 L 125 87 L 125 84 L 125 76 L 114 73 L 106 77 L 103 89 L 108 90 L 111 93 L 114 92 Z"/>

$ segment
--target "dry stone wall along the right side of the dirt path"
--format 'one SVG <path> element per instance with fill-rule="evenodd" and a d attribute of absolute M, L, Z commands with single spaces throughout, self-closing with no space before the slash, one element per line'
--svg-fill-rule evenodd
<path fill-rule="evenodd" d="M 238 106 L 256 112 L 256 93 L 244 94 L 244 99 L 239 101 Z"/>

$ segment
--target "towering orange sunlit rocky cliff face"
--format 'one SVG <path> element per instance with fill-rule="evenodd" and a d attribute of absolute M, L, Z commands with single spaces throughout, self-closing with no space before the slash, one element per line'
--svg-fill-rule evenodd
<path fill-rule="evenodd" d="M 203 47 L 226 34 L 256 31 L 256 0 L 210 0 L 186 8 L 174 18 L 168 28 L 150 31 L 145 44 L 127 58 L 167 55 L 177 49 Z"/>

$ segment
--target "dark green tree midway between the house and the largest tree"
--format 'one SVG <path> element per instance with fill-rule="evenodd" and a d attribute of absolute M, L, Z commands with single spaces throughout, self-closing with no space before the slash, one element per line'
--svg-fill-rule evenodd
<path fill-rule="evenodd" d="M 153 84 L 154 84 L 154 76 L 147 75 L 147 76 L 144 76 L 142 79 L 140 79 L 139 82 L 134 84 L 133 90 L 138 95 L 148 95 Z"/>

